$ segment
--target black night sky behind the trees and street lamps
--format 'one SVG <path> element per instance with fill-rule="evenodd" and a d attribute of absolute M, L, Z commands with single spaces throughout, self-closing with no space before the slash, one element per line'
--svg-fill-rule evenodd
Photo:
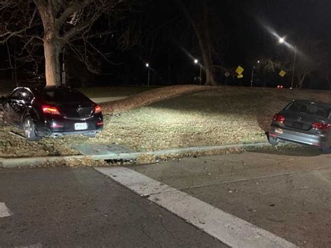
<path fill-rule="evenodd" d="M 194 6 L 195 1 L 190 2 L 190 9 L 198 13 L 200 9 Z M 242 65 L 249 71 L 255 61 L 273 57 L 279 51 L 293 56 L 292 51 L 279 45 L 266 27 L 286 37 L 290 43 L 309 38 L 327 44 L 329 50 L 329 0 L 206 1 L 211 11 L 214 64 L 226 68 Z M 91 82 L 112 85 L 145 83 L 145 64 L 149 62 L 154 84 L 193 83 L 198 68 L 192 58 L 200 59 L 201 54 L 179 0 L 142 2 L 142 8 L 126 18 L 126 22 L 137 24 L 140 43 L 125 51 L 114 48 L 113 43 L 109 45 L 113 50 L 112 61 L 120 65 L 103 63 L 102 74 L 92 76 Z M 6 58 L 4 47 L 1 48 L 1 58 Z M 6 63 L 2 61 L 0 66 L 5 67 Z M 0 75 L 8 78 L 10 73 L 0 71 Z M 223 73 L 216 72 L 216 81 L 222 83 L 223 80 Z"/>

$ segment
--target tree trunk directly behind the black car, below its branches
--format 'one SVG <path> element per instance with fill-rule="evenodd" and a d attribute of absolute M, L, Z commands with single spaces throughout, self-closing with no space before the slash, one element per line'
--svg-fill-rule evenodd
<path fill-rule="evenodd" d="M 56 40 L 44 41 L 45 78 L 47 86 L 61 85 L 60 56 L 61 45 Z"/>

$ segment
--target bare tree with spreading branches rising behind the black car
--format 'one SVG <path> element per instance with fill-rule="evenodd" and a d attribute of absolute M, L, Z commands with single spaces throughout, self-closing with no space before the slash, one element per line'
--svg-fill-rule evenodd
<path fill-rule="evenodd" d="M 0 43 L 22 38 L 23 50 L 43 45 L 47 85 L 60 85 L 59 55 L 66 46 L 90 71 L 95 56 L 108 60 L 93 42 L 115 31 L 112 24 L 133 8 L 129 0 L 0 0 Z M 96 22 L 100 24 L 95 25 Z"/>

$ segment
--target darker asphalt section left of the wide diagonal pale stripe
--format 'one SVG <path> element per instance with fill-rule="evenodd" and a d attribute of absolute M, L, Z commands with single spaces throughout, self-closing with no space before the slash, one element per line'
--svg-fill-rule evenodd
<path fill-rule="evenodd" d="M 0 247 L 224 247 L 93 168 L 0 170 Z"/>

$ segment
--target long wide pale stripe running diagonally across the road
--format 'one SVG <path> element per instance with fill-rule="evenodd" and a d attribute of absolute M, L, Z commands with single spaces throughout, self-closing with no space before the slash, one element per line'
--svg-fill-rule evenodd
<path fill-rule="evenodd" d="M 124 167 L 95 168 L 230 247 L 296 247 L 243 219 Z"/>

